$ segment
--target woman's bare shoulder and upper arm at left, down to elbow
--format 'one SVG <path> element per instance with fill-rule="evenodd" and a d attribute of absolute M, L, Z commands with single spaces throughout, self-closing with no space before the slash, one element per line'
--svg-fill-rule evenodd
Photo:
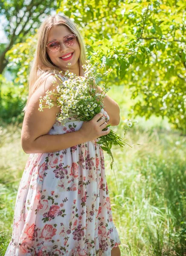
<path fill-rule="evenodd" d="M 29 148 L 38 137 L 47 134 L 56 122 L 56 116 L 60 112 L 60 107 L 55 105 L 57 96 L 50 95 L 50 99 L 52 99 L 55 106 L 52 108 L 44 108 L 43 111 L 39 111 L 38 109 L 40 97 L 46 96 L 47 90 L 55 90 L 55 92 L 57 92 L 57 86 L 61 81 L 62 80 L 58 77 L 52 75 L 48 76 L 32 94 L 26 108 L 21 131 L 21 144 L 24 151 Z M 43 103 L 43 105 L 46 105 L 45 102 Z"/>

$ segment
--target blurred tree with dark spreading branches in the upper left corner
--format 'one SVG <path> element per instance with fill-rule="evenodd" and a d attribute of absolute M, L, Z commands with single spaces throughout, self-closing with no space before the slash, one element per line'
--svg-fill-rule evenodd
<path fill-rule="evenodd" d="M 35 33 L 38 22 L 56 7 L 55 1 L 50 0 L 1 0 L 0 13 L 6 19 L 4 31 L 9 40 L 0 55 L 0 74 L 8 64 L 6 52 L 13 44 L 25 40 L 27 35 Z"/>

